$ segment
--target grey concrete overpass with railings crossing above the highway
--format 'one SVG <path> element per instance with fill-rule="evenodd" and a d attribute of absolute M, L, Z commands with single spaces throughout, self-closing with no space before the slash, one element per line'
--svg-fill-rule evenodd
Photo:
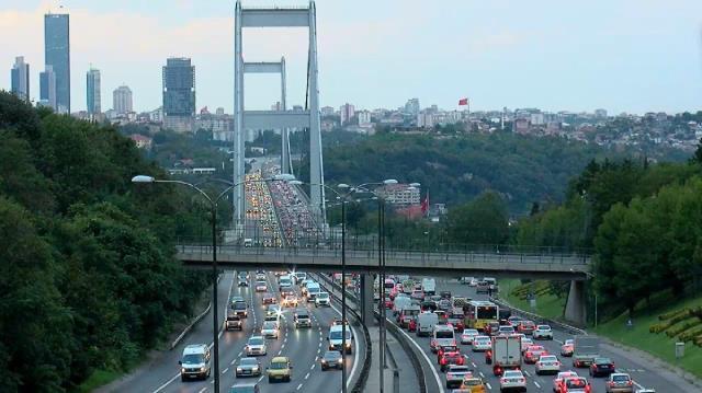
<path fill-rule="evenodd" d="M 190 267 L 212 266 L 212 246 L 179 244 L 177 258 Z M 217 247 L 217 263 L 223 269 L 301 269 L 306 271 L 341 270 L 339 248 Z M 361 274 L 362 309 L 373 304 L 373 278 L 377 273 L 377 248 L 346 251 L 347 271 Z M 590 257 L 577 254 L 529 254 L 488 252 L 385 251 L 385 271 L 418 276 L 491 276 L 570 281 L 565 316 L 578 324 L 586 322 L 585 281 Z"/>

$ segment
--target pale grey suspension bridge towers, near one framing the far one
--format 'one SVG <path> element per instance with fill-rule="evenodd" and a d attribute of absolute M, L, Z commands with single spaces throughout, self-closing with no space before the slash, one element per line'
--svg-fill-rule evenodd
<path fill-rule="evenodd" d="M 307 91 L 306 105 L 302 112 L 287 111 L 285 106 L 285 62 L 245 63 L 242 56 L 244 27 L 308 27 L 307 51 Z M 290 166 L 290 143 L 287 130 L 291 128 L 309 130 L 309 201 L 313 215 L 318 222 L 325 223 L 324 169 L 321 158 L 321 129 L 319 122 L 319 88 L 317 71 L 317 16 L 315 2 L 306 8 L 242 8 L 241 0 L 235 5 L 234 39 L 234 182 L 241 183 L 245 176 L 245 134 L 247 129 L 281 129 L 283 136 L 283 157 L 281 170 L 292 171 Z M 247 66 L 248 65 L 248 66 Z M 260 66 L 253 66 L 260 65 Z M 262 66 L 268 65 L 268 66 Z M 248 69 L 248 71 L 247 71 Z M 244 73 L 280 72 L 282 80 L 281 111 L 244 109 Z M 287 155 L 287 157 L 285 157 Z M 287 170 L 287 171 L 285 171 Z M 235 195 L 234 222 L 240 234 L 244 228 L 245 195 L 244 185 L 239 185 Z"/>

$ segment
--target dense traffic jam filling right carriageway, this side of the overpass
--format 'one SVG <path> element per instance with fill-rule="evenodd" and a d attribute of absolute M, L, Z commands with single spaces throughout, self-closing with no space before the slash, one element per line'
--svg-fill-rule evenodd
<path fill-rule="evenodd" d="M 494 278 L 464 277 L 451 291 L 434 278 L 386 277 L 387 317 L 422 347 L 449 392 L 654 392 L 600 356 L 598 338 L 557 339 L 548 324 L 480 297 L 497 292 Z"/>

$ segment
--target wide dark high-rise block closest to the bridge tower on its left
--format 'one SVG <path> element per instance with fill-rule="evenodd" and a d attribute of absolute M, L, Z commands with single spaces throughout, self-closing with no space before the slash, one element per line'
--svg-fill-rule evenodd
<path fill-rule="evenodd" d="M 163 126 L 192 131 L 195 115 L 195 66 L 190 58 L 169 58 L 163 67 Z"/>

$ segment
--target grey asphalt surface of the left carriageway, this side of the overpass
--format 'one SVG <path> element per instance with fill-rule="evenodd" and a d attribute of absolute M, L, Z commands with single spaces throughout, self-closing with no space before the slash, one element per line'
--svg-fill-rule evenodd
<path fill-rule="evenodd" d="M 275 277 L 268 274 L 269 289 L 272 293 L 278 293 Z M 339 392 L 341 391 L 341 372 L 339 370 L 321 371 L 319 357 L 324 355 L 327 345 L 327 334 L 335 316 L 340 315 L 338 304 L 333 308 L 315 308 L 304 304 L 313 317 L 312 328 L 296 330 L 293 323 L 293 308 L 286 308 L 282 313 L 282 328 L 279 339 L 268 339 L 268 355 L 258 359 L 261 366 L 267 367 L 274 356 L 287 356 L 293 363 L 293 379 L 291 382 L 270 384 L 265 377 L 236 378 L 236 363 L 245 356 L 244 347 L 248 338 L 260 334 L 263 322 L 264 307 L 262 304 L 263 292 L 256 292 L 252 285 L 254 274 L 250 274 L 250 287 L 233 286 L 234 276 L 226 275 L 219 285 L 219 310 L 225 310 L 230 297 L 244 297 L 249 303 L 249 316 L 245 320 L 242 331 L 222 332 L 219 339 L 219 371 L 220 391 L 228 392 L 229 386 L 239 383 L 259 384 L 261 392 Z M 223 291 L 224 290 L 224 291 Z M 297 288 L 296 288 L 297 290 Z M 298 292 L 298 291 L 297 291 Z M 280 300 L 280 299 L 279 299 Z M 220 314 L 224 315 L 224 314 Z M 224 321 L 224 317 L 222 321 Z M 354 333 L 355 335 L 355 333 Z M 356 335 L 358 337 L 358 335 Z M 121 386 L 121 390 L 129 392 L 213 392 L 214 379 L 211 377 L 204 381 L 180 380 L 178 360 L 182 348 L 189 344 L 212 343 L 212 316 L 205 316 L 185 337 L 176 349 L 165 354 L 159 362 L 143 372 L 139 378 L 132 380 L 128 384 Z M 356 343 L 354 343 L 356 344 Z M 362 343 L 358 343 L 362 347 Z M 355 349 L 355 348 L 354 348 Z M 358 354 L 358 355 L 356 355 Z M 354 350 L 348 355 L 347 372 L 349 378 L 353 366 L 362 362 L 362 354 Z M 359 370 L 355 370 L 358 372 Z M 213 370 L 214 372 L 214 370 Z"/>

